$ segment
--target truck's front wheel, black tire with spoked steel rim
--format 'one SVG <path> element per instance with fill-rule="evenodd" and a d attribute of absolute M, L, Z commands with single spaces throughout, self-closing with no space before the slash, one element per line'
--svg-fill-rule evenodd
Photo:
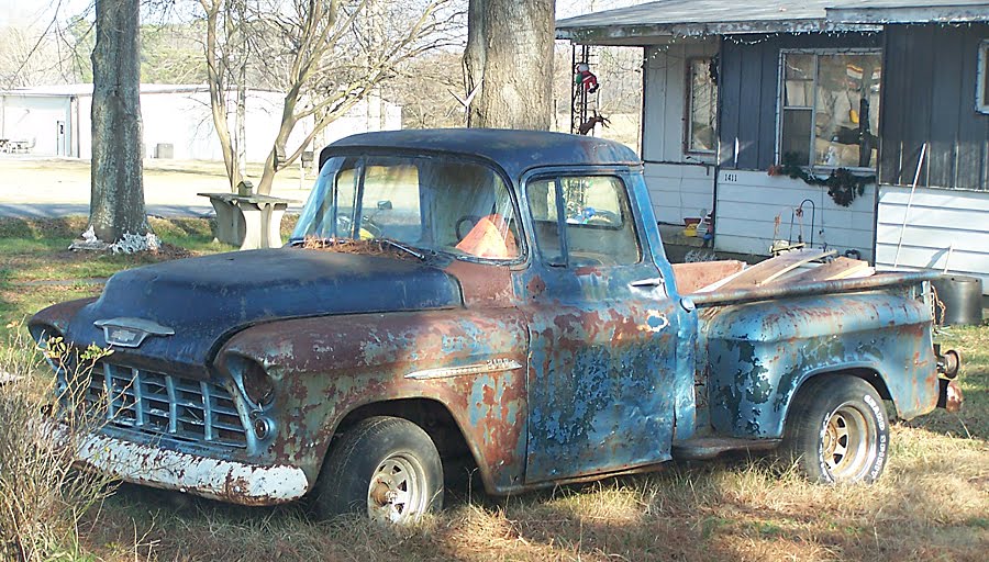
<path fill-rule="evenodd" d="M 443 464 L 421 427 L 376 416 L 346 430 L 331 447 L 315 485 L 322 517 L 362 514 L 409 525 L 443 507 Z"/>

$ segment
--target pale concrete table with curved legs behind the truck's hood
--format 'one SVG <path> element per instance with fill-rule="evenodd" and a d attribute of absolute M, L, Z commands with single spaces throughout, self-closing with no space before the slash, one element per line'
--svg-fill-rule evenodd
<path fill-rule="evenodd" d="M 216 211 L 216 239 L 242 250 L 281 247 L 281 216 L 291 199 L 236 193 L 198 193 Z"/>

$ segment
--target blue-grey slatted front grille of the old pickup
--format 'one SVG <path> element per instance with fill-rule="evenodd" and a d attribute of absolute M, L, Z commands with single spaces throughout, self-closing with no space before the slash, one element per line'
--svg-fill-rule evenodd
<path fill-rule="evenodd" d="M 182 442 L 247 447 L 247 431 L 220 384 L 100 361 L 86 402 L 110 425 Z"/>

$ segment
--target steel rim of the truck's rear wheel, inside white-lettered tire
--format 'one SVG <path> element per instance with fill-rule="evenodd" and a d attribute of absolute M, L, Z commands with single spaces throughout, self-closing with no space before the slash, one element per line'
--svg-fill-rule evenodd
<path fill-rule="evenodd" d="M 835 408 L 824 424 L 824 467 L 836 482 L 860 480 L 876 457 L 873 422 L 853 403 Z"/>

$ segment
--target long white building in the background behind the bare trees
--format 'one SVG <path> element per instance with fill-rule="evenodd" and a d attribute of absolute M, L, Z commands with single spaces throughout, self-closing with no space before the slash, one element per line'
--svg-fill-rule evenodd
<path fill-rule="evenodd" d="M 234 92 L 230 126 L 236 125 Z M 245 128 L 247 160 L 264 161 L 281 124 L 284 94 L 248 90 Z M 19 142 L 37 156 L 89 158 L 92 154 L 92 85 L 64 85 L 0 91 L 0 139 Z M 148 158 L 222 160 L 207 86 L 141 85 L 144 149 Z M 299 123 L 289 145 L 300 143 L 312 119 Z M 401 128 L 401 108 L 365 100 L 322 132 L 326 144 L 355 132 Z"/>

